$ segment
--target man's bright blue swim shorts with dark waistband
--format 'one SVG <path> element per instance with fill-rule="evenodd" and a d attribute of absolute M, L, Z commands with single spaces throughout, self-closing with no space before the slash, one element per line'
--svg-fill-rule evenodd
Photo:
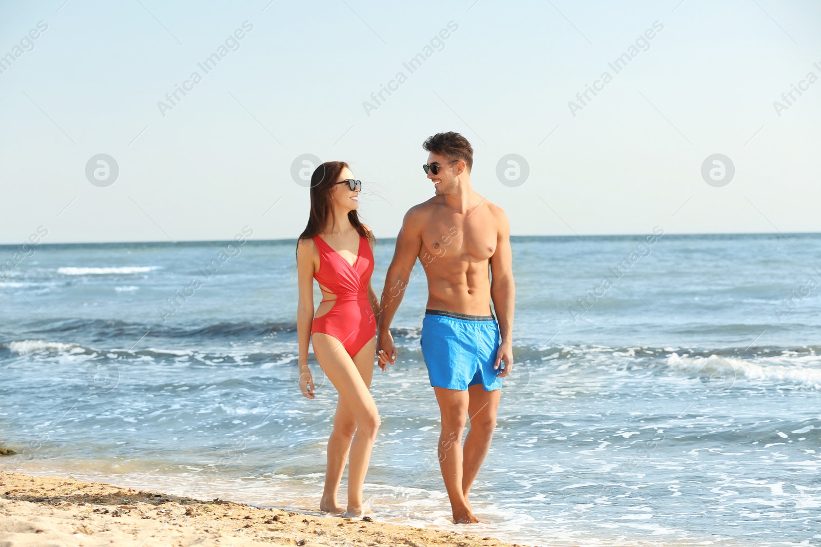
<path fill-rule="evenodd" d="M 425 310 L 420 344 L 431 386 L 502 389 L 502 378 L 496 376 L 501 369 L 493 368 L 500 344 L 496 317 Z"/>

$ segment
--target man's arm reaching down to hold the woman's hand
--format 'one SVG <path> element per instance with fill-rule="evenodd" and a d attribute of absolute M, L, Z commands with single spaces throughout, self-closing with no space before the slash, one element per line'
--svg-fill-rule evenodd
<path fill-rule="evenodd" d="M 405 289 L 413 270 L 416 258 L 422 248 L 422 230 L 418 208 L 411 207 L 402 220 L 402 227 L 397 235 L 397 248 L 393 251 L 393 260 L 385 276 L 385 287 L 382 291 L 382 301 L 379 304 L 379 318 L 377 326 L 377 349 L 379 366 L 388 362 L 395 362 L 397 349 L 393 345 L 391 335 L 391 321 L 397 313 L 397 308 L 405 294 Z"/>

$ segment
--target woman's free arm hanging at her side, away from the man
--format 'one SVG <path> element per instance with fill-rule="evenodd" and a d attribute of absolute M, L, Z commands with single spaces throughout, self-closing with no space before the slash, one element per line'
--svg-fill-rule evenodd
<path fill-rule="evenodd" d="M 312 239 L 300 239 L 296 244 L 296 277 L 299 299 L 296 304 L 296 341 L 299 357 L 296 364 L 300 368 L 300 390 L 308 399 L 315 399 L 314 379 L 308 368 L 308 344 L 310 327 L 314 322 L 314 255 L 319 253 Z"/>

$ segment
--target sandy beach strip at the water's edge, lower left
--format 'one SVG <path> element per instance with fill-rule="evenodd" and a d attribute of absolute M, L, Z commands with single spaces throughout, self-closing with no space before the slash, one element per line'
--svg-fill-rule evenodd
<path fill-rule="evenodd" d="M 0 545 L 510 545 L 487 536 L 0 471 Z M 516 544 L 513 544 L 516 547 Z"/>

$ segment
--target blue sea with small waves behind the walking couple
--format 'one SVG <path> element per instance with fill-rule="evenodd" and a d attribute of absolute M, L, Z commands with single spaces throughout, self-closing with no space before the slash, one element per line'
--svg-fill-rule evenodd
<path fill-rule="evenodd" d="M 489 524 L 448 521 L 418 263 L 397 363 L 374 373 L 377 519 L 530 545 L 821 545 L 821 236 L 512 248 L 515 362 L 471 493 Z M 318 508 L 336 391 L 313 354 L 317 398 L 298 389 L 294 241 L 34 251 L 0 271 L 0 443 L 20 453 L 3 469 Z"/>

